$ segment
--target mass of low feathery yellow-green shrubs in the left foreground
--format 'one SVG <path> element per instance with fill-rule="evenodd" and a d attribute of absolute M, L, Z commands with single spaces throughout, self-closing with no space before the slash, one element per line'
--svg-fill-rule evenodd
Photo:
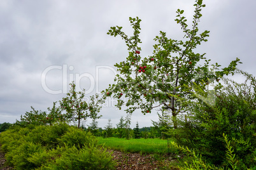
<path fill-rule="evenodd" d="M 96 138 L 68 124 L 15 126 L 0 134 L 1 151 L 15 169 L 113 169 Z"/>

